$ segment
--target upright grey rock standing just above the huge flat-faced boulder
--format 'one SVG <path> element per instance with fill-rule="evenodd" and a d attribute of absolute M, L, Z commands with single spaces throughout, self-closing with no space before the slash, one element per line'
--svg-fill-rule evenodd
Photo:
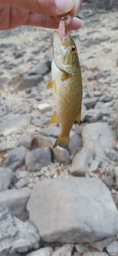
<path fill-rule="evenodd" d="M 85 176 L 88 172 L 88 168 L 93 161 L 92 153 L 87 148 L 82 148 L 72 161 L 72 166 L 70 168 L 70 174 L 76 176 Z"/>

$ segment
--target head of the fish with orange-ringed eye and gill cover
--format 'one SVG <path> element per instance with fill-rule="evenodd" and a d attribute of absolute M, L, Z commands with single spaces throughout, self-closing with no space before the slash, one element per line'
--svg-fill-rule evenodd
<path fill-rule="evenodd" d="M 74 74 L 78 67 L 77 48 L 70 31 L 65 31 L 61 38 L 57 31 L 54 31 L 53 54 L 56 66 L 68 74 Z"/>

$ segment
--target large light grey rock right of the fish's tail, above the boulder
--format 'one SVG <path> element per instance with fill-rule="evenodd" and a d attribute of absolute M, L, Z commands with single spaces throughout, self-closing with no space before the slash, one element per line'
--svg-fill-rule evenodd
<path fill-rule="evenodd" d="M 83 127 L 82 144 L 95 155 L 95 160 L 106 162 L 106 148 L 111 148 L 115 135 L 107 123 L 89 123 Z"/>

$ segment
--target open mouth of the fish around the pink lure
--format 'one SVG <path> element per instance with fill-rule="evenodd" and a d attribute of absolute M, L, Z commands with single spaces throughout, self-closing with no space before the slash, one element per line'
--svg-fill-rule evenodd
<path fill-rule="evenodd" d="M 65 31 L 65 36 L 61 38 L 61 36 L 58 34 L 57 31 L 54 31 L 54 41 L 53 41 L 53 46 L 60 48 L 63 46 L 64 49 L 67 48 L 68 46 L 68 40 L 70 39 L 70 31 L 66 30 Z"/>

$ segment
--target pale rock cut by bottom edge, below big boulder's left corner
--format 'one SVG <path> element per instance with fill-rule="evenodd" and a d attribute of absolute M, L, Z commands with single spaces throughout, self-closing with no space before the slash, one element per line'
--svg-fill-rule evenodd
<path fill-rule="evenodd" d="M 53 253 L 53 248 L 52 247 L 45 247 L 45 248 L 40 248 L 39 250 L 32 251 L 28 253 L 26 256 L 51 256 Z"/>

